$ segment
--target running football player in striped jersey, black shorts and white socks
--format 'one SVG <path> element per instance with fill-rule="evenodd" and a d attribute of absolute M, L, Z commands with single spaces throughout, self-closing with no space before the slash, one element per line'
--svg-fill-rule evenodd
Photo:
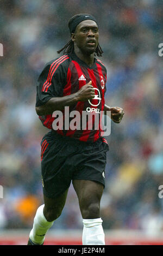
<path fill-rule="evenodd" d="M 120 123 L 124 112 L 105 105 L 106 68 L 95 58 L 103 53 L 95 17 L 77 14 L 68 21 L 68 27 L 71 40 L 58 51 L 64 50 L 64 55 L 46 64 L 37 85 L 36 112 L 51 131 L 41 141 L 45 204 L 37 209 L 28 245 L 43 244 L 48 229 L 61 215 L 71 181 L 83 217 L 83 245 L 105 245 L 100 201 L 109 147 L 100 126 L 95 129 L 95 119 L 100 111 L 111 111 L 111 119 Z M 65 127 L 65 107 L 81 115 L 83 111 L 95 112 L 92 129 L 54 129 L 54 111 L 62 112 Z"/>

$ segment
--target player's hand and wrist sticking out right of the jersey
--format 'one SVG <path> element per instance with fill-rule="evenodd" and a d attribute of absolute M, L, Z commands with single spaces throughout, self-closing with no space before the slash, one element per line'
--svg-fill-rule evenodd
<path fill-rule="evenodd" d="M 104 105 L 104 112 L 105 115 L 107 114 L 107 111 L 111 111 L 111 120 L 115 123 L 120 123 L 122 120 L 122 117 L 124 115 L 124 111 L 122 108 L 119 108 L 118 106 L 110 107 L 108 105 Z"/>

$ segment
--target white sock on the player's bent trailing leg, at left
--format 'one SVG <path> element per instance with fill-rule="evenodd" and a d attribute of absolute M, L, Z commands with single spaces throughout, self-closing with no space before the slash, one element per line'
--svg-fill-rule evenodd
<path fill-rule="evenodd" d="M 34 218 L 34 224 L 33 229 L 30 231 L 29 238 L 32 240 L 32 242 L 42 245 L 42 243 L 45 240 L 45 235 L 49 228 L 52 227 L 54 222 L 48 222 L 43 215 L 43 207 L 44 205 L 41 205 L 37 211 Z"/>

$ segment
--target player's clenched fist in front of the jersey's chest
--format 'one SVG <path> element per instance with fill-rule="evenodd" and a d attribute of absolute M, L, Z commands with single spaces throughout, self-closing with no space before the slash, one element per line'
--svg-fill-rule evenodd
<path fill-rule="evenodd" d="M 86 100 L 93 99 L 95 97 L 95 89 L 92 86 L 92 81 L 89 81 L 86 85 L 82 86 L 76 93 L 79 102 L 86 102 Z"/>

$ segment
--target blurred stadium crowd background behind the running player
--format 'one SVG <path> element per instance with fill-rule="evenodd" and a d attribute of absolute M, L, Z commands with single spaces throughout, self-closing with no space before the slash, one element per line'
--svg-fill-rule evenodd
<path fill-rule="evenodd" d="M 77 13 L 97 18 L 101 59 L 108 70 L 106 103 L 125 111 L 121 124 L 111 123 L 106 138 L 110 151 L 101 202 L 106 243 L 163 243 L 163 199 L 158 197 L 163 184 L 162 1 L 0 3 L 0 244 L 26 244 L 43 203 L 40 141 L 47 129 L 35 113 L 36 80 L 70 39 L 67 21 Z M 81 244 L 82 229 L 71 186 L 47 243 Z"/>

